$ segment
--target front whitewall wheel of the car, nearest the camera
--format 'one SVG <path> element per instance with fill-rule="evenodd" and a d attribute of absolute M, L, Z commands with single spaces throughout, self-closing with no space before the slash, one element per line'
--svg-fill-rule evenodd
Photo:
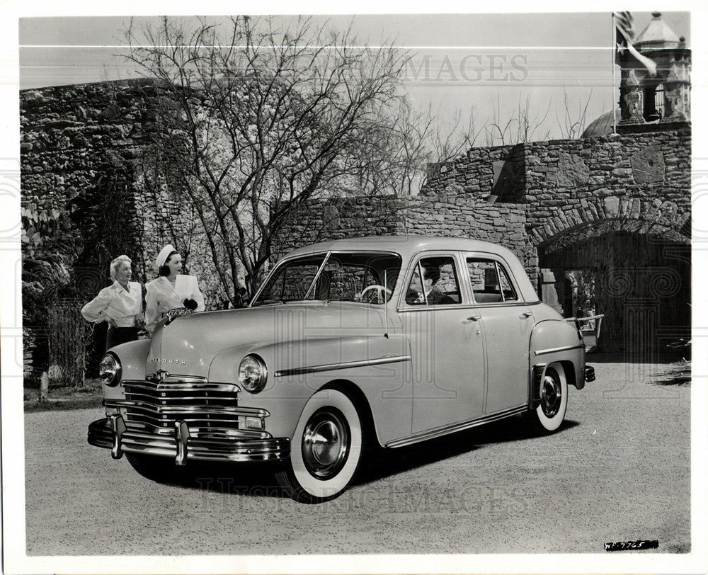
<path fill-rule="evenodd" d="M 290 460 L 275 479 L 296 501 L 333 499 L 354 477 L 362 436 L 360 416 L 346 394 L 336 389 L 316 392 L 292 434 Z"/>

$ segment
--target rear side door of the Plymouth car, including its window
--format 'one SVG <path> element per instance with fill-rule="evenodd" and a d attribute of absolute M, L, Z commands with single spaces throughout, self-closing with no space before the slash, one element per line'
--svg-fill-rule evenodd
<path fill-rule="evenodd" d="M 464 263 L 483 335 L 487 368 L 484 414 L 518 407 L 528 399 L 532 311 L 502 258 L 464 254 Z"/>

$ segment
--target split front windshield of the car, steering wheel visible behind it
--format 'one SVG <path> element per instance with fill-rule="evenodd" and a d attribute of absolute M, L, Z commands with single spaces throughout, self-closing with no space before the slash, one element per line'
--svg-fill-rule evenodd
<path fill-rule="evenodd" d="M 303 256 L 282 263 L 253 305 L 294 301 L 387 302 L 401 271 L 395 254 L 341 253 Z"/>

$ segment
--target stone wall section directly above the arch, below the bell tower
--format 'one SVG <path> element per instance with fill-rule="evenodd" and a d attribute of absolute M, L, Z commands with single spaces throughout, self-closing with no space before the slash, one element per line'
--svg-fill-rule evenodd
<path fill-rule="evenodd" d="M 688 132 L 526 144 L 532 241 L 612 219 L 644 222 L 645 233 L 682 229 L 690 220 L 690 153 Z"/>

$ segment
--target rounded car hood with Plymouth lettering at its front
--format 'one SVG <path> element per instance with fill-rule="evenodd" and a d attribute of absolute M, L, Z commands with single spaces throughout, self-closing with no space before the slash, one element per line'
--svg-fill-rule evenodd
<path fill-rule="evenodd" d="M 208 377 L 212 360 L 225 350 L 249 353 L 275 344 L 383 336 L 393 328 L 384 309 L 358 302 L 304 302 L 200 312 L 158 326 L 146 373 Z"/>

